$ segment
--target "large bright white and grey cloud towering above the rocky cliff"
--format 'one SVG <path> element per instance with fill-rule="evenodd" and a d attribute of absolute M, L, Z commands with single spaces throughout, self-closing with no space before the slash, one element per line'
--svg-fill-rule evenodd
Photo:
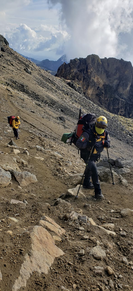
<path fill-rule="evenodd" d="M 101 58 L 122 53 L 121 33 L 133 28 L 133 2 L 130 0 L 49 0 L 61 4 L 60 18 L 71 33 L 66 45 L 70 58 L 98 54 Z M 123 44 L 124 47 L 127 44 Z M 130 44 L 128 44 L 130 45 Z"/>

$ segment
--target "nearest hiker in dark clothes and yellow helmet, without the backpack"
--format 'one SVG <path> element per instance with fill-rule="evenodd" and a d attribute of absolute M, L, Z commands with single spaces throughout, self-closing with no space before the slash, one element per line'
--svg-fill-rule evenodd
<path fill-rule="evenodd" d="M 83 187 L 94 188 L 96 199 L 104 198 L 100 188 L 98 170 L 95 162 L 99 160 L 100 153 L 104 150 L 104 147 L 110 147 L 109 133 L 106 129 L 107 125 L 108 122 L 106 117 L 99 116 L 92 127 L 84 129 L 82 135 L 76 142 L 76 146 L 80 149 L 81 158 L 88 164 L 85 171 Z M 92 147 L 93 151 L 88 161 Z M 90 177 L 92 178 L 93 184 L 90 182 Z M 90 184 L 92 187 L 90 187 Z"/>

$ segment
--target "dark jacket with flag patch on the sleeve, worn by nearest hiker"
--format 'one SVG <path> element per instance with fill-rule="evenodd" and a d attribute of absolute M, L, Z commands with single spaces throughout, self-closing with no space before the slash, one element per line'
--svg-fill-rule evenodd
<path fill-rule="evenodd" d="M 93 153 L 90 156 L 90 160 L 96 161 L 100 157 L 100 153 L 104 150 L 104 140 L 107 140 L 110 144 L 110 138 L 108 130 L 104 130 L 104 133 L 99 135 L 95 130 L 95 125 L 92 128 L 84 130 L 82 135 L 76 142 L 76 146 L 80 149 L 81 158 L 86 161 L 90 153 L 89 141 L 91 142 L 94 138 L 97 138 L 96 146 L 93 149 Z"/>

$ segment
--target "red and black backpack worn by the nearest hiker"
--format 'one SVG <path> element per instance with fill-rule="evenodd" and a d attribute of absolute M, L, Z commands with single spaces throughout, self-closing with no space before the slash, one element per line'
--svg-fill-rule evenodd
<path fill-rule="evenodd" d="M 76 145 L 76 142 L 80 135 L 82 135 L 83 130 L 88 129 L 89 127 L 92 127 L 93 124 L 96 122 L 96 115 L 94 113 L 88 113 L 83 114 L 80 119 L 78 119 L 76 129 L 73 132 L 71 144 L 74 143 Z"/>

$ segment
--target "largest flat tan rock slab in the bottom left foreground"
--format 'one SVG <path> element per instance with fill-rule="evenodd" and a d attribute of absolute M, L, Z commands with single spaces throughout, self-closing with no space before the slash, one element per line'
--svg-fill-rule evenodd
<path fill-rule="evenodd" d="M 45 228 L 35 225 L 29 228 L 28 233 L 31 239 L 30 255 L 25 255 L 19 278 L 16 278 L 12 291 L 26 288 L 26 283 L 34 272 L 47 274 L 54 259 L 64 255 Z"/>

